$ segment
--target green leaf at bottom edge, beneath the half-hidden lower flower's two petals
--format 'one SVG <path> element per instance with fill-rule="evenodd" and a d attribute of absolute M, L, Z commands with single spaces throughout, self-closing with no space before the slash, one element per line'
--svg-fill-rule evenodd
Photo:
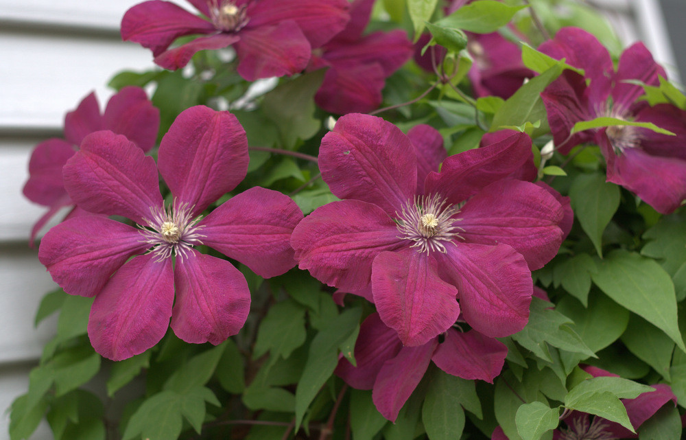
<path fill-rule="evenodd" d="M 460 393 L 454 389 L 448 378 L 440 371 L 429 383 L 429 389 L 422 406 L 422 421 L 429 440 L 449 440 L 462 437 L 464 410 Z"/>

